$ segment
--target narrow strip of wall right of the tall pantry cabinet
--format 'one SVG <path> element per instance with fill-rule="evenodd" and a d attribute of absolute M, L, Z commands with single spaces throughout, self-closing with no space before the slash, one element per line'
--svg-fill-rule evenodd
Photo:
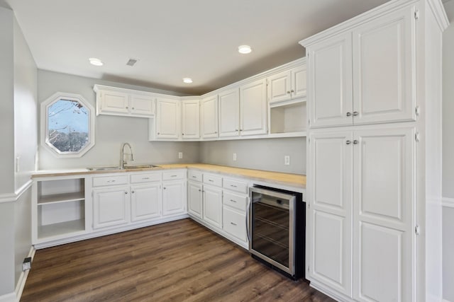
<path fill-rule="evenodd" d="M 454 301 L 454 0 L 443 33 L 443 298 Z"/>

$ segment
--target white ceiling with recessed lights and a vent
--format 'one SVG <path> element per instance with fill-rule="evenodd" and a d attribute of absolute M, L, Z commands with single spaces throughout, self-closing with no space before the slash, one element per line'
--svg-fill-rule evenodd
<path fill-rule="evenodd" d="M 304 57 L 299 40 L 387 2 L 3 1 L 39 69 L 194 95 Z M 243 44 L 253 52 L 239 54 Z M 104 66 L 92 66 L 89 57 Z M 130 58 L 138 59 L 135 66 L 126 65 Z"/>

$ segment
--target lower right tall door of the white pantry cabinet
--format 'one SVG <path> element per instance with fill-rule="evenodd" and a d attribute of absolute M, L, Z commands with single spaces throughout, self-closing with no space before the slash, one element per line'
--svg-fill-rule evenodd
<path fill-rule="evenodd" d="M 353 298 L 415 301 L 414 129 L 354 132 Z"/>

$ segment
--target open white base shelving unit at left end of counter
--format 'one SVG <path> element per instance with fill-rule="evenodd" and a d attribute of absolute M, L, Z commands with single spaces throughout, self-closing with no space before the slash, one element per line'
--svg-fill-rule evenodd
<path fill-rule="evenodd" d="M 86 231 L 84 178 L 36 180 L 34 186 L 35 243 Z"/>

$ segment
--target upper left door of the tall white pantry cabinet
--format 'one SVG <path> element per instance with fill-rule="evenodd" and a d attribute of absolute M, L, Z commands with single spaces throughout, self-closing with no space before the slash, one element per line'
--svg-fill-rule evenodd
<path fill-rule="evenodd" d="M 309 126 L 352 124 L 351 33 L 323 40 L 307 48 L 309 62 Z"/>

